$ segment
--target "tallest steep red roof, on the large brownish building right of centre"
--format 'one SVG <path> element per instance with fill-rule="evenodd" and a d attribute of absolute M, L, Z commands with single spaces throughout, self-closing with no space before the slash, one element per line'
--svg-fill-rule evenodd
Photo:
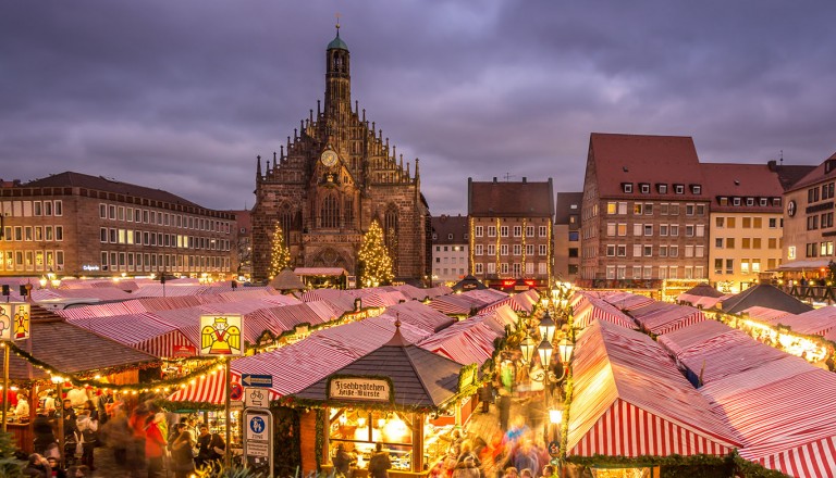
<path fill-rule="evenodd" d="M 589 155 L 594 161 L 601 198 L 709 199 L 704 188 L 702 194 L 694 196 L 689 187 L 705 186 L 697 149 L 689 136 L 593 133 Z M 632 193 L 623 192 L 624 183 L 632 184 Z M 639 193 L 639 183 L 650 184 L 650 194 Z M 660 194 L 656 184 L 667 185 L 667 193 Z M 674 194 L 674 184 L 685 185 L 685 194 Z"/>

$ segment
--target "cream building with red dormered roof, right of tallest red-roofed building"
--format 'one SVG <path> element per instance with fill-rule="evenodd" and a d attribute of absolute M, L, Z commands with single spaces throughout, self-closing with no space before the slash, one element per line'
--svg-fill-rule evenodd
<path fill-rule="evenodd" d="M 702 165 L 711 200 L 709 280 L 737 293 L 780 265 L 784 188 L 774 162 Z"/>

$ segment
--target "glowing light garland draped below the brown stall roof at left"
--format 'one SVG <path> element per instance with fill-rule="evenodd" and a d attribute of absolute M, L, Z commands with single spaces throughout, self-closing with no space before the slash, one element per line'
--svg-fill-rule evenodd
<path fill-rule="evenodd" d="M 159 381 L 155 381 L 153 383 L 115 385 L 115 383 L 109 383 L 107 381 L 101 381 L 100 379 L 101 377 L 99 375 L 96 375 L 93 378 L 78 378 L 73 374 L 66 374 L 49 365 L 48 363 L 34 357 L 30 353 L 26 352 L 25 350 L 19 349 L 17 345 L 15 345 L 14 343 L 9 342 L 9 344 L 11 345 L 10 350 L 14 352 L 15 355 L 25 360 L 32 365 L 42 369 L 47 374 L 49 374 L 51 376 L 52 382 L 54 383 L 70 382 L 76 387 L 95 387 L 100 389 L 131 393 L 134 395 L 140 392 L 142 393 L 173 392 L 176 389 L 183 389 L 183 388 L 186 388 L 188 385 L 196 383 L 197 380 L 206 379 L 210 375 L 214 375 L 223 372 L 223 362 L 221 358 L 219 358 L 219 360 L 211 361 L 208 365 L 197 368 L 194 372 L 183 377 L 177 377 L 170 380 L 159 380 Z M 121 369 L 132 369 L 132 368 L 148 368 L 148 367 L 142 367 L 142 366 L 124 367 Z"/>

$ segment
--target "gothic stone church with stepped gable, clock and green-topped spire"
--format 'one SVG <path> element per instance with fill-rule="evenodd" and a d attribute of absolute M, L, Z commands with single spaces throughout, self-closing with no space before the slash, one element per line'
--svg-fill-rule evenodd
<path fill-rule="evenodd" d="M 383 131 L 352 109 L 348 47 L 336 37 L 325 52 L 324 104 L 302 121 L 266 167 L 258 158 L 253 209 L 253 278 L 269 278 L 278 222 L 294 267 L 342 267 L 358 274 L 357 252 L 373 219 L 383 228 L 395 278 L 426 281 L 430 213 L 415 171 Z M 324 106 L 324 108 L 322 108 Z"/>

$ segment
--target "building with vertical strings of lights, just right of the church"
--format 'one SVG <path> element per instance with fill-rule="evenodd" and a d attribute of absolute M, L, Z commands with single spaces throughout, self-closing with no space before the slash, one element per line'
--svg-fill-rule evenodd
<path fill-rule="evenodd" d="M 554 266 L 554 191 L 542 183 L 467 179 L 470 273 L 490 287 L 546 288 Z"/>

